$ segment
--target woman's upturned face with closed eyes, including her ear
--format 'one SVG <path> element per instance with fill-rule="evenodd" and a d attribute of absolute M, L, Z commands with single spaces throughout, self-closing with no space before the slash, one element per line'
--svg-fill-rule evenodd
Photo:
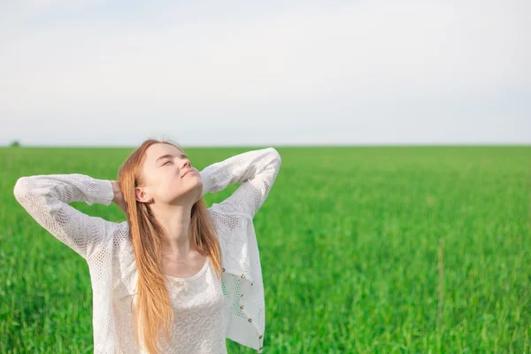
<path fill-rule="evenodd" d="M 202 196 L 201 175 L 173 145 L 151 145 L 145 152 L 142 173 L 144 185 L 135 190 L 136 200 L 140 202 L 148 202 L 152 197 L 154 203 L 194 204 Z M 187 175 L 183 176 L 184 173 Z"/>

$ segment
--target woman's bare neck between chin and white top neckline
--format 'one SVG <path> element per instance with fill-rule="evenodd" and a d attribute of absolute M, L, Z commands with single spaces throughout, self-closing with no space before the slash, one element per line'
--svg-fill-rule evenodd
<path fill-rule="evenodd" d="M 151 208 L 165 233 L 162 252 L 177 254 L 179 258 L 188 257 L 190 250 L 189 226 L 192 205 L 152 204 Z"/>

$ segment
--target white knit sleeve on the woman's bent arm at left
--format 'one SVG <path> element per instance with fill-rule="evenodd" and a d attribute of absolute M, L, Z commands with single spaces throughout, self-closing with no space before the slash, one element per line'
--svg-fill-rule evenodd
<path fill-rule="evenodd" d="M 68 204 L 110 205 L 114 196 L 111 181 L 76 173 L 20 177 L 14 195 L 39 225 L 85 259 L 105 241 L 107 224 L 112 224 Z"/>

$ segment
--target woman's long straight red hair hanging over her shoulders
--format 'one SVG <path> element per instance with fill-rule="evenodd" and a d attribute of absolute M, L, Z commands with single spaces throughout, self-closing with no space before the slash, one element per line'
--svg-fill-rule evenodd
<path fill-rule="evenodd" d="M 167 143 L 184 152 L 177 143 L 148 139 L 131 153 L 118 172 L 119 186 L 127 205 L 127 224 L 138 272 L 137 297 L 133 309 L 135 342 L 138 348 L 141 348 L 142 342 L 143 350 L 150 354 L 160 352 L 161 334 L 171 342 L 170 328 L 174 319 L 162 273 L 162 245 L 165 235 L 151 212 L 150 205 L 138 202 L 135 198 L 135 188 L 143 182 L 141 166 L 145 151 L 155 143 Z M 215 273 L 220 277 L 219 241 L 203 197 L 192 206 L 189 235 L 191 247 L 211 259 Z"/>

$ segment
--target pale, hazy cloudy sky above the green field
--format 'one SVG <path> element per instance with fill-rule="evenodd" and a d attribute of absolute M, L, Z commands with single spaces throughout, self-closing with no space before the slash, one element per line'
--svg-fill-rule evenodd
<path fill-rule="evenodd" d="M 1 2 L 0 145 L 531 144 L 528 0 L 180 3 Z"/>

